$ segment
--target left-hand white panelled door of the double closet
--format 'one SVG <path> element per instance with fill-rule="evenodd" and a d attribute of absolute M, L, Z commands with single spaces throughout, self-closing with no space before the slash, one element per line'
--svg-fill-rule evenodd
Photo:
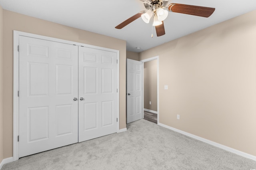
<path fill-rule="evenodd" d="M 78 142 L 78 47 L 19 43 L 19 157 Z"/>

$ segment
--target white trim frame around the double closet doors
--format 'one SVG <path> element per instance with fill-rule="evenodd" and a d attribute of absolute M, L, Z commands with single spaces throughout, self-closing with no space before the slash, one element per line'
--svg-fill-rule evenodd
<path fill-rule="evenodd" d="M 109 49 L 104 47 L 98 47 L 94 45 L 88 45 L 84 43 L 72 42 L 68 40 L 62 40 L 58 38 L 52 38 L 47 36 L 40 36 L 37 34 L 30 34 L 27 32 L 20 32 L 20 31 L 13 31 L 13 161 L 19 159 L 19 143 L 18 143 L 18 134 L 19 134 L 19 97 L 18 97 L 18 90 L 19 90 L 19 52 L 18 52 L 18 45 L 19 45 L 19 36 L 26 36 L 31 38 L 38 38 L 42 40 L 48 40 L 52 42 L 60 42 L 66 43 L 71 45 L 78 45 L 84 46 L 89 48 L 101 49 L 106 51 L 116 52 L 117 54 L 117 127 L 116 132 L 119 132 L 119 65 L 120 65 L 120 52 L 116 49 Z"/>

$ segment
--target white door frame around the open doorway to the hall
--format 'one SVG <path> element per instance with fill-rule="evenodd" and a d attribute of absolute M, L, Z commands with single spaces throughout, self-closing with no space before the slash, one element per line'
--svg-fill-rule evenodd
<path fill-rule="evenodd" d="M 142 119 L 144 119 L 144 63 L 157 60 L 157 124 L 159 123 L 159 56 L 140 60 L 142 62 Z"/>

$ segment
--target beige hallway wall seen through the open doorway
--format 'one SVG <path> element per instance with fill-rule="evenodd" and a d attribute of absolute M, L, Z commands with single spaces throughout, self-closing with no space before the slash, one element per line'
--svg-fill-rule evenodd
<path fill-rule="evenodd" d="M 151 101 L 151 105 L 149 104 Z M 144 109 L 157 111 L 157 60 L 144 62 Z"/>

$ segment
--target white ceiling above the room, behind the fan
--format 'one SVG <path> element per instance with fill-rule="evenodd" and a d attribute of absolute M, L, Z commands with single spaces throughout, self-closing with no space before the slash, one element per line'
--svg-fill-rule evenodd
<path fill-rule="evenodd" d="M 216 9 L 209 18 L 169 12 L 164 20 L 166 34 L 157 37 L 153 28 L 154 37 L 151 38 L 152 25 L 144 23 L 141 18 L 121 30 L 115 28 L 134 14 L 146 10 L 140 0 L 0 0 L 5 10 L 126 40 L 127 50 L 134 52 L 256 10 L 256 0 L 169 0 L 170 3 Z"/>

